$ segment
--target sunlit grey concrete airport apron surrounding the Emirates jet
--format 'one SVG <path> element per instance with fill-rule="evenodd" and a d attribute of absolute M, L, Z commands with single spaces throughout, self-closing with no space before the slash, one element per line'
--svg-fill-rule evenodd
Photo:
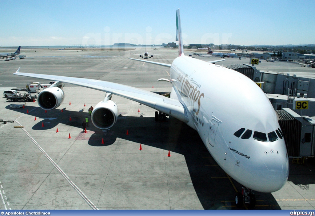
<path fill-rule="evenodd" d="M 163 48 L 148 51 L 160 54 L 149 60 L 168 64 L 178 53 Z M 0 60 L 0 92 L 25 87 L 30 78 L 13 75 L 19 67 L 23 73 L 92 78 L 170 92 L 171 84 L 157 82 L 169 78 L 169 69 L 128 59 L 136 58 L 130 53 L 139 52 L 144 49 L 24 50 L 25 59 Z M 236 63 L 248 64 L 249 59 L 222 62 L 223 66 Z M 257 66 L 271 67 L 279 72 L 314 73 L 288 62 Z M 215 163 L 192 128 L 174 118 L 155 122 L 155 110 L 113 95 L 120 113 L 116 125 L 100 130 L 90 122 L 87 133 L 82 133 L 87 109 L 103 100 L 105 92 L 69 84 L 63 90 L 63 104 L 47 113 L 32 102 L 24 109 L 11 109 L 12 102 L 0 98 L 0 118 L 15 120 L 0 125 L 0 209 L 237 209 L 233 199 L 241 186 Z M 314 174 L 314 161 L 290 163 L 287 184 L 278 192 L 256 192 L 255 209 L 315 209 Z"/>

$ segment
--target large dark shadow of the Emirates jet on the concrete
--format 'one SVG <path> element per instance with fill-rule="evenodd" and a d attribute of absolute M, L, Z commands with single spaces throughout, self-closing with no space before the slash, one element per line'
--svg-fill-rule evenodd
<path fill-rule="evenodd" d="M 61 108 L 50 110 L 45 113 L 39 107 L 26 105 L 24 109 L 14 109 L 20 113 L 36 116 L 37 123 L 33 130 L 48 130 L 58 126 L 59 123 L 72 127 L 82 128 L 82 122 L 88 115 L 83 111 L 67 111 Z M 6 106 L 6 109 L 11 109 Z M 71 116 L 71 121 L 70 121 Z M 44 123 L 44 127 L 42 127 Z M 204 209 L 237 209 L 235 206 L 235 190 L 226 178 L 225 172 L 217 165 L 206 147 L 204 146 L 197 131 L 183 122 L 170 117 L 165 122 L 155 122 L 154 117 L 118 116 L 117 123 L 109 130 L 100 130 L 92 122 L 89 122 L 89 131 L 94 132 L 88 140 L 88 144 L 97 148 L 113 144 L 117 138 L 122 138 L 142 145 L 170 150 L 185 156 L 186 164 L 192 180 L 192 184 Z M 129 135 L 126 135 L 126 132 Z M 101 139 L 105 144 L 101 144 Z M 241 185 L 232 180 L 237 190 Z M 255 209 L 280 209 L 271 193 L 255 192 Z M 245 208 L 243 208 L 245 209 Z"/>

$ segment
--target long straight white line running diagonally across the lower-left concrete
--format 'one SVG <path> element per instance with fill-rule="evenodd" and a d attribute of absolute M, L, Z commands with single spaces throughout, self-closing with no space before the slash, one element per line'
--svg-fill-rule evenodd
<path fill-rule="evenodd" d="M 21 117 L 21 116 L 20 116 Z M 19 121 L 17 121 L 17 118 L 14 119 L 14 121 L 19 125 L 22 126 L 20 124 Z M 60 174 L 66 179 L 66 181 L 69 182 L 69 184 L 78 192 L 78 194 L 85 200 L 86 203 L 89 204 L 89 206 L 91 208 L 93 208 L 94 210 L 98 210 L 98 208 L 92 203 L 91 200 L 89 200 L 89 198 L 87 196 L 85 196 L 85 194 L 80 190 L 80 188 L 78 188 L 78 186 L 76 184 L 74 184 L 70 178 L 66 175 L 66 173 L 61 170 L 61 168 L 54 162 L 53 159 L 51 159 L 49 157 L 49 155 L 44 151 L 44 149 L 42 149 L 42 147 L 36 142 L 36 140 L 34 138 L 32 138 L 32 136 L 26 131 L 26 129 L 24 127 L 22 127 L 22 130 L 26 133 L 26 135 L 31 139 L 31 141 L 37 146 L 37 148 L 43 153 L 43 155 L 49 160 L 50 163 L 52 163 L 52 165 L 54 165 L 54 167 L 60 172 Z"/>

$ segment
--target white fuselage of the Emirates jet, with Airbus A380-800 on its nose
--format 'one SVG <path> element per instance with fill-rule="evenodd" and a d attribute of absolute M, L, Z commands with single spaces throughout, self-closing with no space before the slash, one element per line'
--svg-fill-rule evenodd
<path fill-rule="evenodd" d="M 228 175 L 259 192 L 274 192 L 285 184 L 289 160 L 284 139 L 263 142 L 253 134 L 248 139 L 233 135 L 241 128 L 265 134 L 280 128 L 271 103 L 252 80 L 237 71 L 185 56 L 172 62 L 170 79 L 176 80 L 171 98 L 177 96 L 184 104 L 187 124 L 198 131 Z"/>

